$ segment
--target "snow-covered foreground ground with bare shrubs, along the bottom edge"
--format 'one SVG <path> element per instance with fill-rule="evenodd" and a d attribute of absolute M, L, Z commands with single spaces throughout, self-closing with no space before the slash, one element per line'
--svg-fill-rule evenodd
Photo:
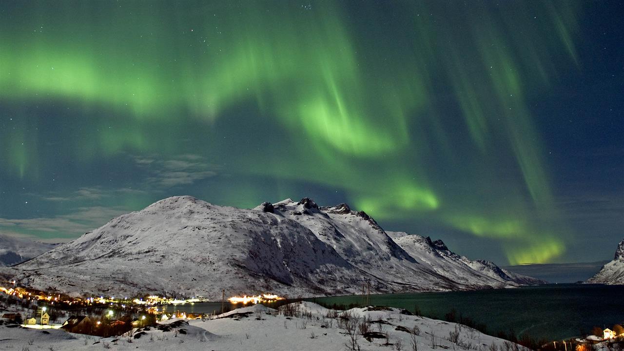
<path fill-rule="evenodd" d="M 311 302 L 280 311 L 253 305 L 212 320 L 167 320 L 118 338 L 0 325 L 0 350 L 514 350 L 464 325 L 404 313 L 387 307 L 341 312 Z M 363 337 L 361 324 L 373 338 Z"/>

